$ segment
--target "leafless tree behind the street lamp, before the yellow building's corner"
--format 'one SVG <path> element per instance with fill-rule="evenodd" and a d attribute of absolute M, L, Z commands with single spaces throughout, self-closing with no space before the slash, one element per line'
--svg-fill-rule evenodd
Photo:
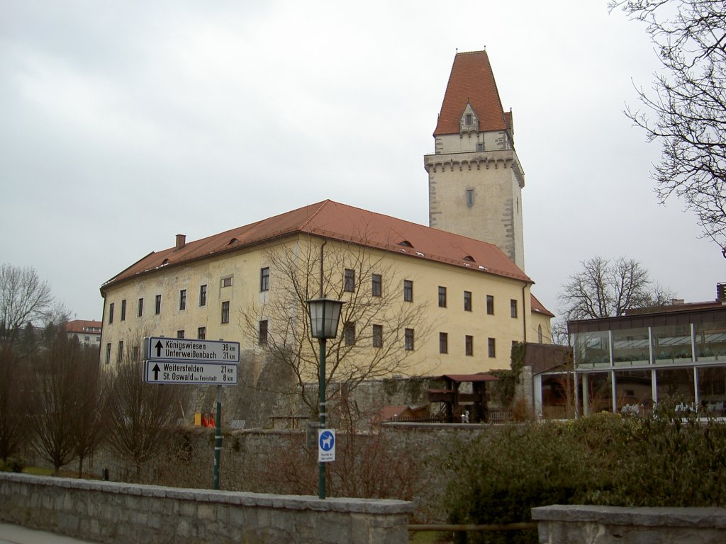
<path fill-rule="evenodd" d="M 308 300 L 325 294 L 345 302 L 338 337 L 327 342 L 326 380 L 336 386 L 328 397 L 367 379 L 409 374 L 413 351 L 404 349 L 405 329 L 422 338 L 432 325 L 422 304 L 404 302 L 391 257 L 364 244 L 327 244 L 309 236 L 272 247 L 265 258 L 269 297 L 242 310 L 240 325 L 290 368 L 312 413 L 317 399 L 309 389 L 317 394 L 319 344 L 310 334 Z"/>

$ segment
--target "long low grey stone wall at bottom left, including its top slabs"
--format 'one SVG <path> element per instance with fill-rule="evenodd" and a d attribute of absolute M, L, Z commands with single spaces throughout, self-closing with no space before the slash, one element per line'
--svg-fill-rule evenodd
<path fill-rule="evenodd" d="M 0 522 L 101 543 L 408 542 L 411 503 L 0 473 Z"/>

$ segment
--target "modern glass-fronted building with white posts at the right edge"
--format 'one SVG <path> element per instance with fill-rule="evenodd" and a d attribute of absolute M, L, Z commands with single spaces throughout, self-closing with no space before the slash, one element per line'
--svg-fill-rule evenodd
<path fill-rule="evenodd" d="M 570 321 L 582 413 L 648 413 L 674 400 L 726 416 L 726 305 L 682 304 Z"/>

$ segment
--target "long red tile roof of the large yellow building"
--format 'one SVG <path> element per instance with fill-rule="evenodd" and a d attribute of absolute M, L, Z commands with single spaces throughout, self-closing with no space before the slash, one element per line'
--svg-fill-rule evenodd
<path fill-rule="evenodd" d="M 363 244 L 401 255 L 410 255 L 413 258 L 435 260 L 481 273 L 534 283 L 494 244 L 332 200 L 324 200 L 256 223 L 187 242 L 178 250 L 176 247 L 170 247 L 167 250 L 151 252 L 104 285 L 130 279 L 140 273 L 152 272 L 164 266 L 179 265 L 210 255 L 234 252 L 242 247 L 270 242 L 296 233 Z M 407 245 L 401 245 L 401 242 L 407 242 Z"/>

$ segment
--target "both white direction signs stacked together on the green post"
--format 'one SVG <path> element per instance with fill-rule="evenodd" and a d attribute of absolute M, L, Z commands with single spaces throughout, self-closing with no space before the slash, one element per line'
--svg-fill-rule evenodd
<path fill-rule="evenodd" d="M 240 342 L 144 338 L 144 382 L 237 385 Z"/>

